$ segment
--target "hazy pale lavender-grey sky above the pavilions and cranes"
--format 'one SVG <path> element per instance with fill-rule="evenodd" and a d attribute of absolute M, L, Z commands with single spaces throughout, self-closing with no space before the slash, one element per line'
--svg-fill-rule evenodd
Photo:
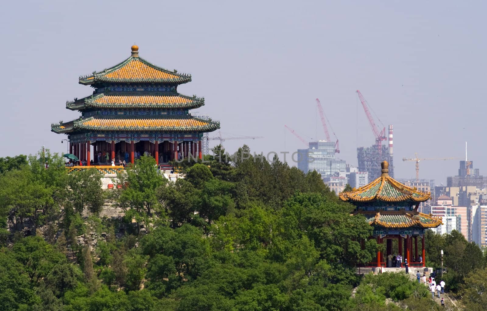
<path fill-rule="evenodd" d="M 45 3 L 43 3 L 45 2 Z M 396 178 L 414 176 L 403 157 L 464 157 L 487 175 L 485 1 L 7 1 L 0 12 L 3 86 L 0 157 L 65 152 L 51 123 L 79 116 L 66 100 L 92 93 L 78 76 L 140 56 L 193 81 L 178 90 L 205 97 L 200 112 L 234 151 L 290 151 L 324 138 L 319 98 L 357 165 L 374 144 L 360 90 L 394 126 Z M 215 136 L 210 134 L 210 136 Z M 217 141 L 213 141 L 213 144 Z M 458 161 L 424 161 L 420 178 L 446 183 Z"/>

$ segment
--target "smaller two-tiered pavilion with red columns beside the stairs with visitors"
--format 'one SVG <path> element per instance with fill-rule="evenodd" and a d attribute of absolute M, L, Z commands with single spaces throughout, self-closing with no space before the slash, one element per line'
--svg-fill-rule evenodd
<path fill-rule="evenodd" d="M 375 181 L 338 196 L 355 205 L 354 215 L 363 215 L 374 227 L 373 236 L 378 244 L 386 241 L 386 253 L 377 252 L 374 266 L 385 267 L 387 256 L 400 254 L 408 259 L 410 267 L 425 267 L 425 230 L 442 224 L 441 218 L 417 211 L 419 203 L 429 200 L 431 194 L 394 180 L 389 176 L 387 161 L 381 166 L 381 176 Z M 422 244 L 421 261 L 418 260 L 418 238 Z M 393 239 L 397 239 L 397 250 L 393 250 Z"/>

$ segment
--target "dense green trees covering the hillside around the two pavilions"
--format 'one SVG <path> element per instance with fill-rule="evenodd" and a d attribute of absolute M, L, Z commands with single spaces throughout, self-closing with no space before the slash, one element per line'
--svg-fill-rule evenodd
<path fill-rule="evenodd" d="M 318 173 L 249 156 L 246 146 L 233 158 L 215 151 L 221 161 L 179 164 L 186 178 L 175 182 L 142 157 L 110 191 L 94 170 L 68 175 L 49 151 L 8 165 L 0 310 L 435 310 L 403 274 L 355 274 L 376 254 L 372 228 Z M 125 216 L 100 219 L 106 198 Z M 459 241 L 440 238 L 445 250 Z M 478 251 L 460 242 L 463 262 L 446 256 L 463 284 L 483 266 L 468 265 L 466 252 Z M 476 288 L 460 286 L 472 308 L 482 306 Z"/>

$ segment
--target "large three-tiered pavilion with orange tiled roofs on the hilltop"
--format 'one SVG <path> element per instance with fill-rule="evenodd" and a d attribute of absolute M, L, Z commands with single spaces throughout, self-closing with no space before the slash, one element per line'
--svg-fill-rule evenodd
<path fill-rule="evenodd" d="M 79 78 L 94 88 L 93 94 L 66 103 L 81 116 L 70 122 L 51 125 L 51 130 L 68 134 L 71 153 L 90 165 L 98 164 L 98 154 L 122 160 L 129 154 L 150 154 L 156 163 L 202 158 L 203 133 L 220 128 L 218 122 L 194 118 L 189 113 L 205 104 L 202 97 L 178 93 L 178 85 L 191 75 L 169 71 L 139 57 L 131 56 L 100 72 Z M 93 153 L 91 153 L 93 150 Z M 106 163 L 106 158 L 100 163 Z M 117 161 L 118 162 L 118 161 Z"/>

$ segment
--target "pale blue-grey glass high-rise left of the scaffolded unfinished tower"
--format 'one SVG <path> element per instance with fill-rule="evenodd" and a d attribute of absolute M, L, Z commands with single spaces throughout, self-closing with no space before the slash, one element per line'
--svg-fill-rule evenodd
<path fill-rule="evenodd" d="M 304 173 L 316 170 L 321 178 L 345 172 L 344 160 L 335 157 L 335 142 L 310 142 L 308 149 L 298 149 L 298 168 Z"/>

